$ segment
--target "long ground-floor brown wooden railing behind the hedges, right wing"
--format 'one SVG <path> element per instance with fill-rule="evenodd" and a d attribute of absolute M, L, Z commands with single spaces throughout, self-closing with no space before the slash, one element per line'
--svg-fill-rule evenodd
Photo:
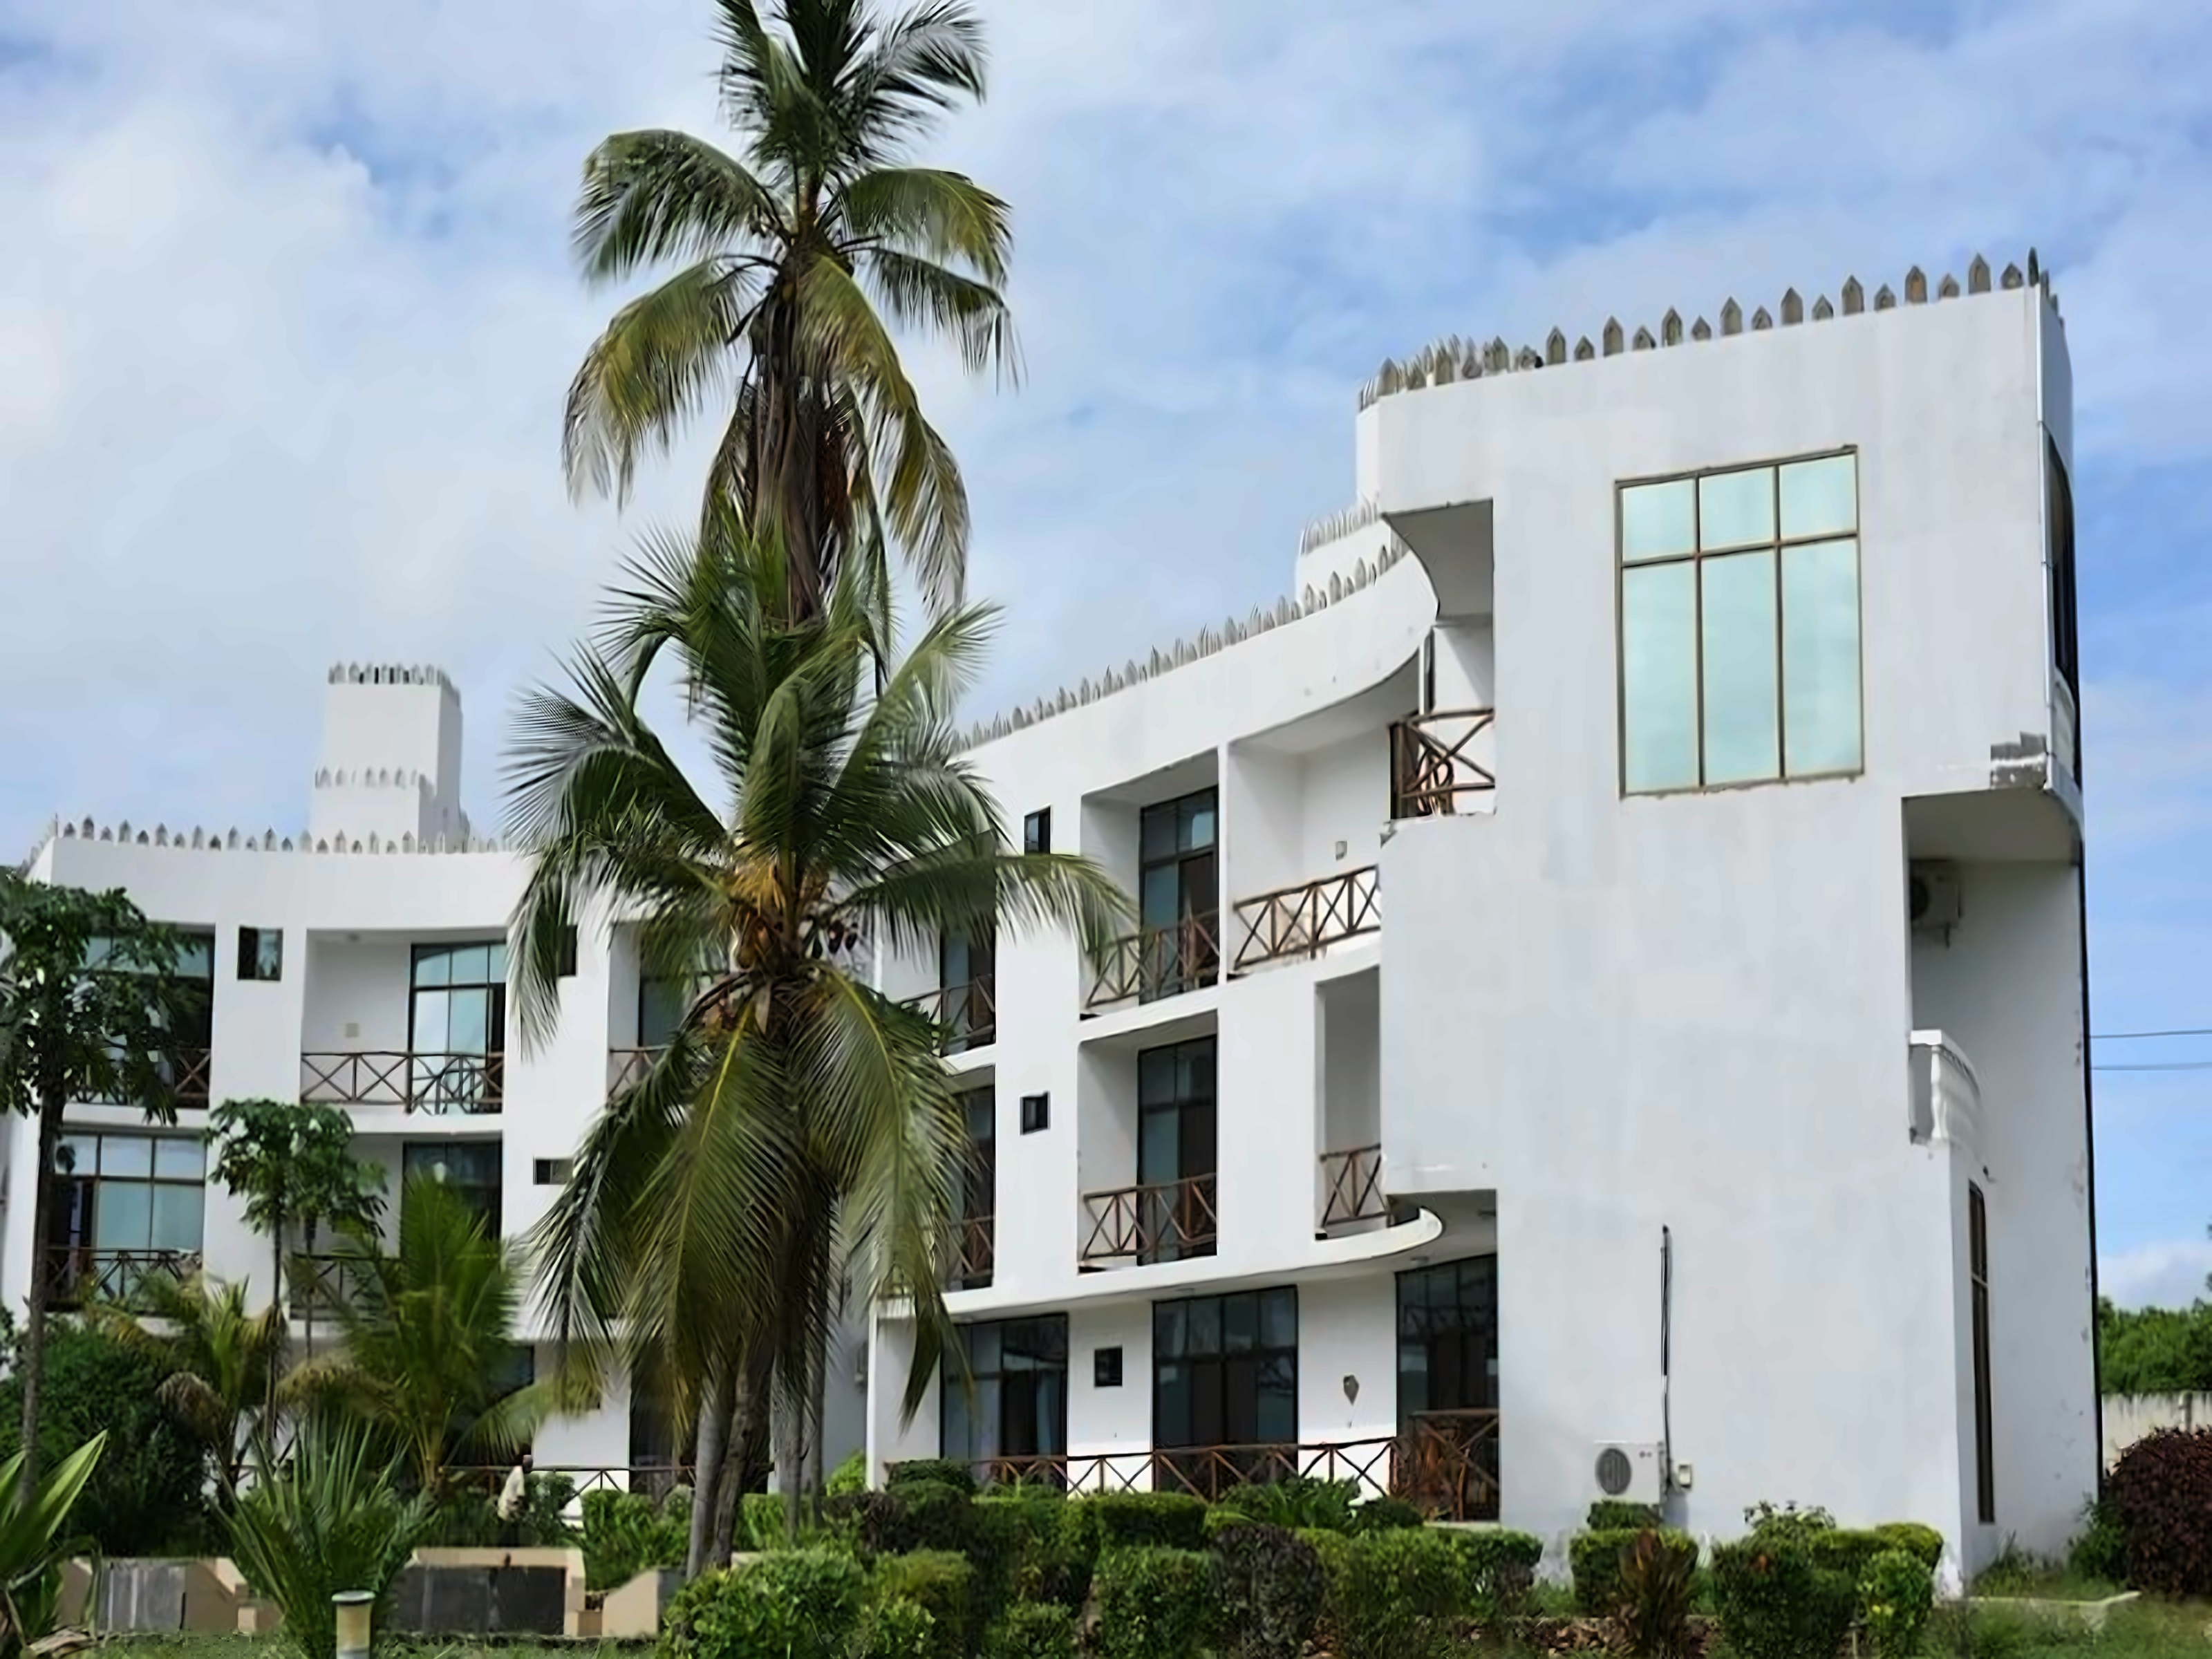
<path fill-rule="evenodd" d="M 1292 1475 L 1349 1480 L 1371 1495 L 1405 1498 L 1431 1520 L 1498 1520 L 1495 1411 L 1425 1411 L 1405 1433 L 1376 1440 L 1002 1455 L 971 1467 L 987 1486 L 1181 1491 L 1208 1502 Z"/>

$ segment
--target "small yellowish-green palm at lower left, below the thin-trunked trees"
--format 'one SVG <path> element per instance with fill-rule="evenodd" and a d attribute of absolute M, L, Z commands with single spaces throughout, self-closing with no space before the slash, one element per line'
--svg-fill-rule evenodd
<path fill-rule="evenodd" d="M 265 1407 L 283 1360 L 283 1310 L 274 1303 L 250 1310 L 241 1283 L 146 1274 L 131 1287 L 128 1305 L 93 1303 L 84 1314 L 168 1371 L 161 1405 L 199 1438 L 223 1491 L 234 1493 L 246 1469 L 248 1425 L 257 1436 L 272 1427 Z"/>

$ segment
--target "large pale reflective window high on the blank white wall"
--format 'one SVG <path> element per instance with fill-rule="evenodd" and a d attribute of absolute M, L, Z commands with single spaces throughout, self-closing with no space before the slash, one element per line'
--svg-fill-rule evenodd
<path fill-rule="evenodd" d="M 1621 787 L 1863 765 L 1858 456 L 1624 484 Z"/>

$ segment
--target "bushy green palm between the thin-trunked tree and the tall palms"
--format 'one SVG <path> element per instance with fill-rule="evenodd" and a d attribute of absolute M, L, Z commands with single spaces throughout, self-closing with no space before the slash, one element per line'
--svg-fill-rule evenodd
<path fill-rule="evenodd" d="M 484 1219 L 447 1186 L 418 1179 L 400 1199 L 398 1250 L 341 1243 L 347 1290 L 332 1307 L 343 1347 L 303 1360 L 292 1400 L 345 1407 L 387 1433 L 420 1491 L 436 1495 L 458 1453 L 504 1458 L 557 1407 L 557 1378 L 515 1385 L 522 1274 Z"/>

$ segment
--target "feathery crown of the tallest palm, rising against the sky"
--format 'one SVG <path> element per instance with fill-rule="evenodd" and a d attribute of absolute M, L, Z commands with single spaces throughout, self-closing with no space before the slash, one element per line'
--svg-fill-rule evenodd
<path fill-rule="evenodd" d="M 909 161 L 953 104 L 982 100 L 982 22 L 964 0 L 894 15 L 869 0 L 717 0 L 717 11 L 721 108 L 739 150 L 615 133 L 584 164 L 586 279 L 681 265 L 615 312 L 575 372 L 568 487 L 626 498 L 639 451 L 712 411 L 726 425 L 706 500 L 779 524 L 787 615 L 812 615 L 836 566 L 858 560 L 883 626 L 887 542 L 942 608 L 962 591 L 967 489 L 889 325 L 953 338 L 971 374 L 1018 374 L 1000 292 L 1006 204 Z"/>

